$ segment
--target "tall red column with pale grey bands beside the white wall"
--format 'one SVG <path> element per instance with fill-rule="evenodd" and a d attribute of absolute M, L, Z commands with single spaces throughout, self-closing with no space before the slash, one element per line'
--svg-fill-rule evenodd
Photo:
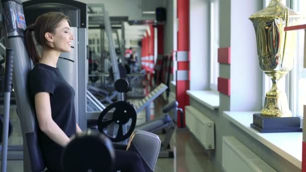
<path fill-rule="evenodd" d="M 189 0 L 177 0 L 178 48 L 176 73 L 176 100 L 184 116 L 178 115 L 178 127 L 185 127 L 185 106 L 189 105 Z"/>

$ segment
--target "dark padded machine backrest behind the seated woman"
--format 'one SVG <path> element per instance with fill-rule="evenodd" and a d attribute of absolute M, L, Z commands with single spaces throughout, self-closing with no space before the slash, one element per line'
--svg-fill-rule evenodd
<path fill-rule="evenodd" d="M 14 49 L 13 87 L 24 145 L 24 171 L 43 171 L 45 168 L 37 137 L 37 120 L 28 94 L 28 75 L 33 65 L 24 45 L 24 12 L 21 0 L 3 2 L 8 45 Z M 16 19 L 16 17 L 18 19 Z"/>

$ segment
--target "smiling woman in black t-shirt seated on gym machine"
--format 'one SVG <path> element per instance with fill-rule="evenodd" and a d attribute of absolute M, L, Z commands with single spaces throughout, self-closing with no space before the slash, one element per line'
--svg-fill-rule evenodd
<path fill-rule="evenodd" d="M 37 18 L 25 31 L 26 48 L 36 64 L 29 76 L 29 90 L 39 125 L 38 137 L 48 171 L 62 171 L 60 155 L 76 132 L 74 90 L 56 67 L 61 52 L 69 52 L 74 39 L 68 18 L 50 12 Z M 41 52 L 35 44 L 41 45 Z M 145 171 L 136 152 L 115 150 L 115 170 Z M 103 155 L 102 155 L 103 156 Z"/>

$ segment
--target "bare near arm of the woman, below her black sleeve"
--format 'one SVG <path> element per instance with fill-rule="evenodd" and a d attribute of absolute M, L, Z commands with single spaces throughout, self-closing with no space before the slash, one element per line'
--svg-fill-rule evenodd
<path fill-rule="evenodd" d="M 35 95 L 35 110 L 40 130 L 57 144 L 67 145 L 70 139 L 52 119 L 49 93 Z"/>

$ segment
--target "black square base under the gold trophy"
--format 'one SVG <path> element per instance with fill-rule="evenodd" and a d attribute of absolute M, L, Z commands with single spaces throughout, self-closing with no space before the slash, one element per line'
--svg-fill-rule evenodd
<path fill-rule="evenodd" d="M 251 127 L 260 133 L 302 132 L 299 117 L 265 118 L 260 114 L 253 114 Z"/>

